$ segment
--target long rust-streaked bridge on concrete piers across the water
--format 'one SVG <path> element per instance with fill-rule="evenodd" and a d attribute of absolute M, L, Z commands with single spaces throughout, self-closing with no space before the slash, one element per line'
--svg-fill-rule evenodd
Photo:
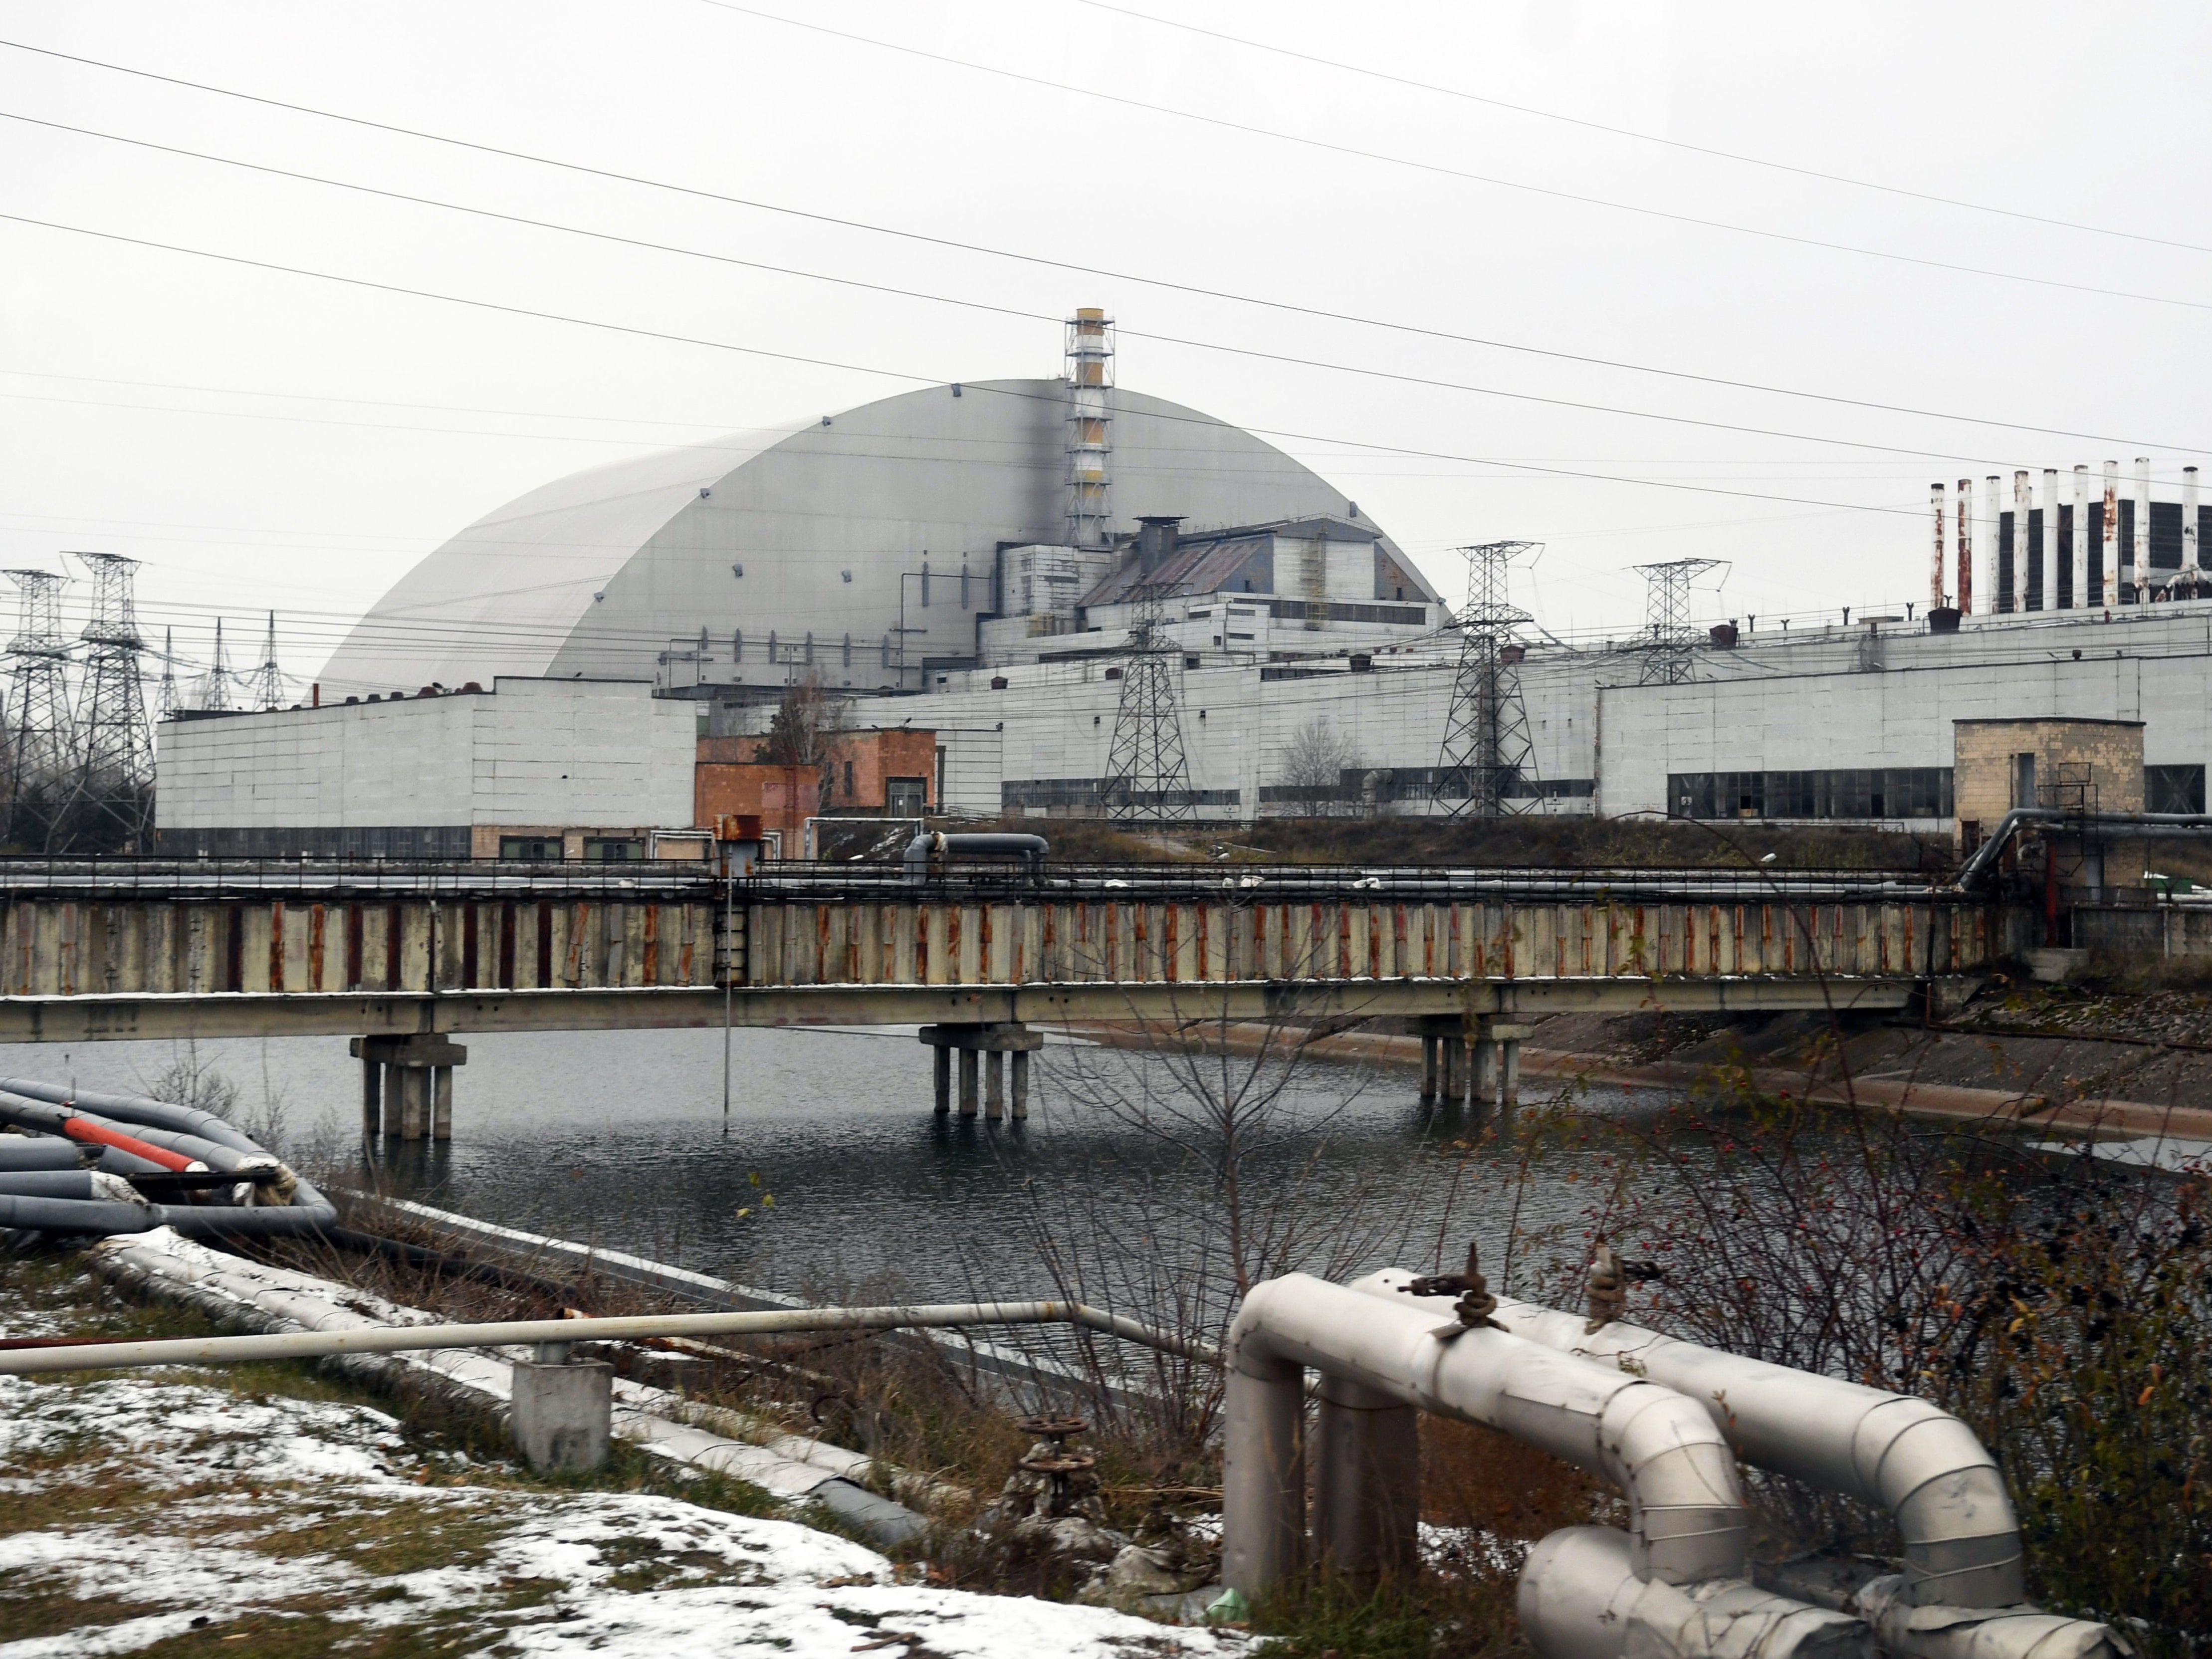
<path fill-rule="evenodd" d="M 1035 1024 L 1396 1015 L 1511 1099 L 1537 1015 L 1896 1009 L 2031 927 L 1880 874 L 4 860 L 0 1042 L 347 1035 L 407 1139 L 471 1031 L 918 1024 L 938 1110 L 1013 1055 L 1022 1117 Z"/>

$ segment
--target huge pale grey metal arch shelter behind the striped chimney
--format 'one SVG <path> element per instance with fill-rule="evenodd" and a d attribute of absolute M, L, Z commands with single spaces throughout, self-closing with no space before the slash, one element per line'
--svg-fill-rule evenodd
<path fill-rule="evenodd" d="M 1358 511 L 1239 427 L 1113 398 L 1117 529 Z M 973 657 L 1002 546 L 1066 538 L 1066 411 L 1062 380 L 938 385 L 573 473 L 400 577 L 330 657 L 323 690 L 493 675 L 783 684 L 801 666 L 832 688 L 914 688 L 925 664 Z M 688 655 L 701 633 L 706 661 Z"/>

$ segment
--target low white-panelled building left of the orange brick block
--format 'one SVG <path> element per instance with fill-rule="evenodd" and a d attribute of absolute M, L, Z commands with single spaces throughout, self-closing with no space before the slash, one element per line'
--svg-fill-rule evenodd
<path fill-rule="evenodd" d="M 155 737 L 155 845 L 186 858 L 644 856 L 692 821 L 695 712 L 646 681 L 513 679 L 195 712 Z"/>

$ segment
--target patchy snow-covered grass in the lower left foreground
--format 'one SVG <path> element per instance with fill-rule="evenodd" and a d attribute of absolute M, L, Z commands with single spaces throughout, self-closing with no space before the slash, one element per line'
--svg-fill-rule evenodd
<path fill-rule="evenodd" d="M 1245 1646 L 1104 1608 L 902 1584 L 883 1555 L 794 1522 L 502 1484 L 500 1467 L 414 1451 L 372 1407 L 237 1394 L 204 1376 L 0 1378 L 0 1659 L 292 1626 L 327 1632 L 330 1652 L 405 1630 L 513 1659 L 1168 1659 Z"/>

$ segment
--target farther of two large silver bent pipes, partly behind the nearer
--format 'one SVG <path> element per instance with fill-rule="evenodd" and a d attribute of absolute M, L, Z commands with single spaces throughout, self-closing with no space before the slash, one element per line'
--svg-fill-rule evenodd
<path fill-rule="evenodd" d="M 1354 1290 L 1402 1301 L 1400 1285 L 1411 1281 L 1389 1267 Z M 2020 1515 L 1995 1458 L 1949 1411 L 1619 1321 L 1590 1332 L 1582 1314 L 1504 1296 L 1491 1318 L 1553 1352 L 1632 1369 L 1697 1400 L 1750 1464 L 1889 1511 L 1905 1573 L 1838 1597 L 1876 1626 L 1885 1650 L 1931 1659 L 1953 1650 L 1973 1659 L 2124 1650 L 2108 1626 L 2026 1606 Z"/>

